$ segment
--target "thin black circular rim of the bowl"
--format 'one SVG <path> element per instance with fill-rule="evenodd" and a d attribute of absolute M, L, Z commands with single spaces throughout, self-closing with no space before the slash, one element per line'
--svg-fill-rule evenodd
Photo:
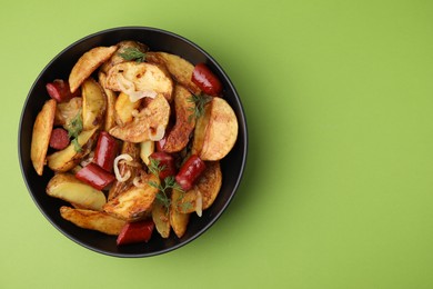
<path fill-rule="evenodd" d="M 105 33 L 111 33 L 111 32 L 115 32 L 115 31 L 121 31 L 121 30 L 137 30 L 137 31 L 152 31 L 152 32 L 157 32 L 157 33 L 162 33 L 162 34 L 168 34 L 170 37 L 173 37 L 173 38 L 177 38 L 190 46 L 192 46 L 194 49 L 197 49 L 198 51 L 200 51 L 200 53 L 204 54 L 207 57 L 208 60 L 210 60 L 212 62 L 212 64 L 218 69 L 220 70 L 220 72 L 222 73 L 222 76 L 224 77 L 224 80 L 226 81 L 228 86 L 230 87 L 230 90 L 233 91 L 233 96 L 234 96 L 234 100 L 239 103 L 239 111 L 240 111 L 240 116 L 238 116 L 238 118 L 240 117 L 241 119 L 239 120 L 240 124 L 242 124 L 243 127 L 243 130 L 239 130 L 239 132 L 243 132 L 242 133 L 242 138 L 243 138 L 243 147 L 241 147 L 241 151 L 243 152 L 243 156 L 242 156 L 242 159 L 241 159 L 241 166 L 240 166 L 240 171 L 239 171 L 239 176 L 236 177 L 236 180 L 231 189 L 231 192 L 230 192 L 230 196 L 229 198 L 226 199 L 226 201 L 223 203 L 223 206 L 221 207 L 221 209 L 212 217 L 212 219 L 210 219 L 209 222 L 207 222 L 203 228 L 201 228 L 200 230 L 198 230 L 197 232 L 194 232 L 190 238 L 181 241 L 181 242 L 178 242 L 173 246 L 170 246 L 168 248 L 164 248 L 164 249 L 161 249 L 161 250 L 155 250 L 155 251 L 151 251 L 151 252 L 144 252 L 144 253 L 122 253 L 122 252 L 112 252 L 112 251 L 108 251 L 108 250 L 103 250 L 103 249 L 100 249 L 98 247 L 93 247 L 93 246 L 90 246 L 79 239 L 77 239 L 75 237 L 71 236 L 68 231 L 63 230 L 62 228 L 60 228 L 60 226 L 58 226 L 52 219 L 51 217 L 44 211 L 44 209 L 42 208 L 42 206 L 39 203 L 39 201 L 36 199 L 34 197 L 34 193 L 32 192 L 31 188 L 30 188 L 30 183 L 29 183 L 29 180 L 26 176 L 26 170 L 24 170 L 24 167 L 23 167 L 23 158 L 22 158 L 22 151 L 21 151 L 21 138 L 22 138 L 22 124 L 23 124 L 23 119 L 24 119 L 24 112 L 26 112 L 26 109 L 29 104 L 29 101 L 30 101 L 30 97 L 31 97 L 31 93 L 32 91 L 34 90 L 34 87 L 37 86 L 38 81 L 42 78 L 42 76 L 46 73 L 46 71 L 51 67 L 51 64 L 58 59 L 60 58 L 64 52 L 67 52 L 68 50 L 72 49 L 73 47 L 80 44 L 81 42 L 84 42 L 91 38 L 94 38 L 94 37 L 98 37 L 98 36 L 101 36 L 101 34 L 105 34 Z M 238 138 L 240 137 L 241 133 L 238 134 Z M 223 70 L 223 68 L 213 59 L 212 56 L 210 56 L 204 49 L 202 49 L 201 47 L 199 47 L 197 43 L 192 42 L 191 40 L 178 34 L 178 33 L 174 33 L 174 32 L 171 32 L 171 31 L 168 31 L 168 30 L 163 30 L 163 29 L 160 29 L 160 28 L 154 28 L 154 27 L 147 27 L 147 26 L 123 26 L 123 27 L 114 27 L 114 28 L 108 28 L 108 29 L 103 29 L 103 30 L 99 30 L 99 31 L 95 31 L 95 32 L 92 32 L 88 36 L 84 36 L 75 41 L 73 41 L 72 43 L 68 44 L 66 48 L 63 48 L 60 52 L 58 52 L 44 67 L 43 69 L 38 73 L 37 78 L 34 79 L 33 83 L 31 84 L 29 91 L 28 91 L 28 94 L 26 97 L 26 100 L 22 104 L 22 109 L 21 109 L 21 114 L 20 114 L 20 120 L 19 120 L 19 126 L 18 126 L 18 158 L 19 158 L 19 163 L 20 163 L 20 171 L 21 171 L 21 176 L 22 176 L 22 179 L 24 180 L 24 183 L 26 183 L 26 187 L 27 187 L 27 190 L 28 190 L 28 193 L 30 195 L 30 197 L 32 198 L 33 202 L 37 205 L 39 211 L 44 216 L 44 218 L 59 231 L 61 232 L 63 236 L 66 236 L 68 239 L 72 240 L 73 242 L 75 242 L 77 245 L 83 247 L 83 248 L 87 248 L 93 252 L 98 252 L 98 253 L 101 253 L 101 255 L 105 255 L 105 256 L 110 256 L 110 257 L 118 257 L 118 258 L 143 258 L 143 257 L 153 257 L 153 256 L 159 256 L 159 255 L 163 255 L 163 253 L 167 253 L 167 252 L 170 252 L 170 251 L 173 251 L 175 249 L 179 249 L 183 246 L 187 246 L 189 245 L 190 242 L 192 242 L 193 240 L 195 240 L 197 238 L 199 238 L 200 236 L 202 236 L 205 231 L 208 231 L 216 221 L 218 219 L 220 219 L 220 217 L 223 215 L 223 212 L 226 210 L 226 208 L 229 207 L 229 205 L 231 203 L 231 201 L 233 200 L 234 196 L 236 195 L 236 191 L 239 189 L 239 186 L 242 181 L 242 178 L 243 178 L 243 175 L 244 175 L 244 170 L 245 170 L 245 166 L 246 166 L 246 159 L 248 159 L 248 148 L 249 148 L 249 133 L 248 133 L 248 124 L 246 124 L 246 116 L 245 116 L 245 111 L 244 111 L 244 107 L 242 104 L 242 101 L 241 101 L 241 98 L 239 97 L 239 93 L 236 91 L 236 89 L 234 88 L 231 79 L 229 78 L 229 76 L 225 73 L 225 71 Z"/>

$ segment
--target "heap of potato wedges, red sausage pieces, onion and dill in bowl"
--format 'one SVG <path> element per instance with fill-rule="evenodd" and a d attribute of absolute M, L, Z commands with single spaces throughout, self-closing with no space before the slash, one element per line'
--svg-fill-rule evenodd
<path fill-rule="evenodd" d="M 123 246 L 154 230 L 182 238 L 214 202 L 239 124 L 204 63 L 122 40 L 46 86 L 30 155 L 39 176 L 53 172 L 47 193 L 69 202 L 63 219 Z"/>

